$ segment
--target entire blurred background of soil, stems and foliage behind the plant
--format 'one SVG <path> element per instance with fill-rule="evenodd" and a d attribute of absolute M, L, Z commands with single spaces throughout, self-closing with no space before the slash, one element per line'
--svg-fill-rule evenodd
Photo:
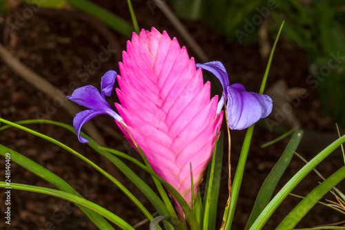
<path fill-rule="evenodd" d="M 197 63 L 221 61 L 230 83 L 242 83 L 253 92 L 259 91 L 270 50 L 285 21 L 266 85 L 266 94 L 274 101 L 273 113 L 255 129 L 235 214 L 234 229 L 244 229 L 255 195 L 288 140 L 265 149 L 260 145 L 289 129 L 301 127 L 305 133 L 298 151 L 310 159 L 337 138 L 335 123 L 343 128 L 344 134 L 344 1 L 133 0 L 132 5 L 140 29 L 166 30 L 171 37 L 177 37 L 180 45 L 186 46 Z M 126 41 L 134 31 L 127 1 L 110 0 L 0 0 L 0 26 L 1 117 L 10 121 L 43 118 L 70 125 L 81 108 L 70 105 L 65 96 L 83 85 L 99 88 L 106 71 L 118 71 L 121 51 L 126 50 Z M 214 76 L 206 75 L 206 79 L 212 81 L 213 94 L 220 94 L 221 85 Z M 116 100 L 115 94 L 108 98 L 110 105 Z M 99 143 L 139 158 L 111 118 L 99 116 L 89 124 L 86 132 Z M 119 176 L 150 207 L 126 178 L 101 156 L 78 143 L 74 135 L 47 125 L 30 127 L 61 140 Z M 232 132 L 233 170 L 244 134 L 244 131 Z M 15 129 L 1 132 L 0 143 L 54 171 L 79 188 L 86 198 L 124 216 L 130 224 L 144 220 L 106 178 L 54 145 Z M 325 177 L 344 164 L 340 151 L 333 155 L 320 165 Z M 293 160 L 279 186 L 303 165 L 301 160 Z M 149 180 L 148 175 L 139 169 L 137 172 Z M 224 167 L 219 224 L 228 197 L 226 176 Z M 51 186 L 14 164 L 12 178 L 14 182 Z M 294 193 L 306 196 L 319 181 L 312 174 Z M 341 187 L 344 191 L 344 184 Z M 0 202 L 3 197 L 1 192 Z M 24 191 L 13 191 L 12 197 L 12 222 L 17 229 L 96 229 L 79 209 L 64 200 Z M 334 200 L 332 195 L 328 198 Z M 267 229 L 277 227 L 297 202 L 298 198 L 289 197 L 268 222 Z M 1 205 L 0 210 L 3 213 Z M 344 214 L 317 205 L 298 227 L 344 220 Z M 6 227 L 4 222 L 0 222 L 1 227 Z M 148 224 L 137 229 L 148 229 Z"/>

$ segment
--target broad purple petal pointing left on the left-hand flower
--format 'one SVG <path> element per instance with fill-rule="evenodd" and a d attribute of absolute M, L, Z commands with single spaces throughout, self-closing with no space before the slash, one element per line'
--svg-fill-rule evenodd
<path fill-rule="evenodd" d="M 95 111 L 104 111 L 110 109 L 110 105 L 99 91 L 92 85 L 86 85 L 75 90 L 72 96 L 67 96 L 70 101 L 88 107 Z M 111 110 L 111 109 L 110 109 Z"/>

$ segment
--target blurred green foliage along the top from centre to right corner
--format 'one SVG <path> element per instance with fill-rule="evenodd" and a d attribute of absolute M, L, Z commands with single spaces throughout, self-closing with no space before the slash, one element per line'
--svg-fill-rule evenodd
<path fill-rule="evenodd" d="M 317 71 L 328 66 L 331 54 L 345 56 L 344 1 L 264 1 L 264 0 L 170 0 L 182 19 L 203 21 L 228 41 L 250 43 L 257 41 L 257 29 L 262 20 L 272 16 L 278 24 L 286 21 L 284 34 L 307 51 Z M 275 4 L 273 4 L 275 3 Z M 268 9 L 268 15 L 262 9 Z M 261 18 L 260 18 L 261 17 Z M 255 20 L 261 19 L 258 23 Z M 255 39 L 255 40 L 253 40 Z M 326 72 L 326 77 L 313 76 L 317 81 L 322 105 L 328 116 L 334 116 L 345 127 L 345 60 Z M 328 71 L 328 70 L 326 70 Z M 326 78 L 326 79 L 325 79 Z M 315 80 L 316 79 L 316 80 Z"/>

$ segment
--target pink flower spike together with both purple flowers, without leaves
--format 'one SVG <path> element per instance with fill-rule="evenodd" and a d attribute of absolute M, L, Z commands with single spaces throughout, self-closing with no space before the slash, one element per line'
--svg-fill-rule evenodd
<path fill-rule="evenodd" d="M 243 85 L 230 85 L 219 61 L 196 65 L 177 39 L 155 28 L 151 32 L 141 30 L 139 36 L 133 33 L 122 57 L 120 74 L 110 70 L 102 77 L 101 93 L 88 85 L 68 96 L 89 108 L 79 112 L 73 122 L 79 141 L 88 141 L 79 132 L 90 118 L 112 116 L 127 140 L 144 152 L 155 173 L 192 207 L 193 194 L 197 194 L 220 134 L 224 102 L 230 129 L 246 129 L 270 114 L 272 100 L 264 94 L 247 92 Z M 224 96 L 220 100 L 219 96 L 210 98 L 210 82 L 204 83 L 203 69 L 221 82 Z M 117 112 L 105 98 L 112 94 L 115 79 L 121 103 L 115 103 Z M 175 207 L 184 220 L 177 200 Z"/>

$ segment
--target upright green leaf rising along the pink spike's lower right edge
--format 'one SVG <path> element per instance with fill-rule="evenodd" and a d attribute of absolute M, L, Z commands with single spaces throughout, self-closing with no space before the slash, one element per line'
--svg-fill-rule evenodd
<path fill-rule="evenodd" d="M 223 161 L 223 145 L 224 133 L 219 136 L 219 140 L 215 143 L 215 153 L 210 165 L 208 165 L 208 173 L 206 180 L 206 196 L 204 197 L 204 227 L 203 229 L 215 229 L 217 219 L 217 205 L 219 197 L 219 184 L 221 177 L 221 167 Z"/>

